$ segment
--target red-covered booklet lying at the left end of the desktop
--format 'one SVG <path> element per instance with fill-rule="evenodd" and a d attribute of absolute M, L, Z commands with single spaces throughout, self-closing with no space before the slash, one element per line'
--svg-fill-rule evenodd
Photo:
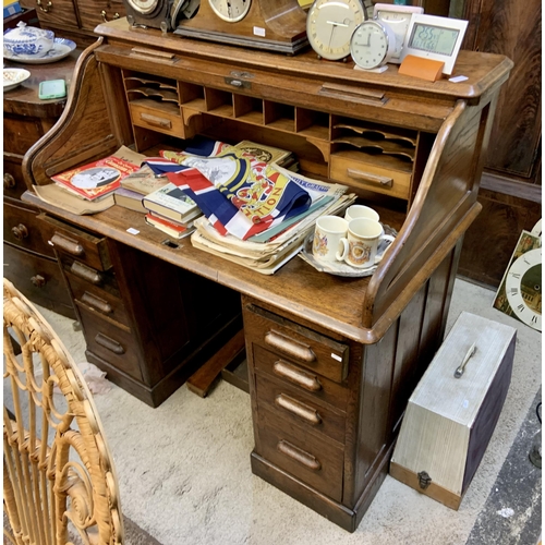
<path fill-rule="evenodd" d="M 123 178 L 138 169 L 140 165 L 110 155 L 82 167 L 53 174 L 51 180 L 86 201 L 96 201 L 112 193 L 120 186 L 120 181 Z"/>

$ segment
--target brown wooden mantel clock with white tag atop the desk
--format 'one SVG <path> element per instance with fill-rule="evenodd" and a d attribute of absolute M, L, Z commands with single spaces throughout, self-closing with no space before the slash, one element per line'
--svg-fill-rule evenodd
<path fill-rule="evenodd" d="M 201 0 L 197 14 L 174 34 L 293 55 L 308 45 L 298 0 Z"/>

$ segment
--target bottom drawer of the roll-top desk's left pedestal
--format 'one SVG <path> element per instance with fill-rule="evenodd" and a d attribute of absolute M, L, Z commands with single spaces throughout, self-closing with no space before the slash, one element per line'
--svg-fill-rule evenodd
<path fill-rule="evenodd" d="M 102 318 L 77 304 L 87 350 L 113 367 L 142 380 L 141 354 L 130 331 L 117 327 L 113 320 Z"/>

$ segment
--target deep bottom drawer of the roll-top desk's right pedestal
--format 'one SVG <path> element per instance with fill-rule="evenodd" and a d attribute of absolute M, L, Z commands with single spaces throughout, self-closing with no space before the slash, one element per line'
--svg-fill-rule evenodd
<path fill-rule="evenodd" d="M 343 448 L 287 424 L 263 407 L 256 452 L 335 501 L 342 500 Z"/>

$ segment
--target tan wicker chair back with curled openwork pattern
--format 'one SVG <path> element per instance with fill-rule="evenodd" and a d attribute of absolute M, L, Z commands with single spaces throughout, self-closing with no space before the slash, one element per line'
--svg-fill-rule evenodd
<path fill-rule="evenodd" d="M 92 393 L 32 303 L 5 279 L 3 291 L 4 536 L 121 545 L 118 481 Z"/>

